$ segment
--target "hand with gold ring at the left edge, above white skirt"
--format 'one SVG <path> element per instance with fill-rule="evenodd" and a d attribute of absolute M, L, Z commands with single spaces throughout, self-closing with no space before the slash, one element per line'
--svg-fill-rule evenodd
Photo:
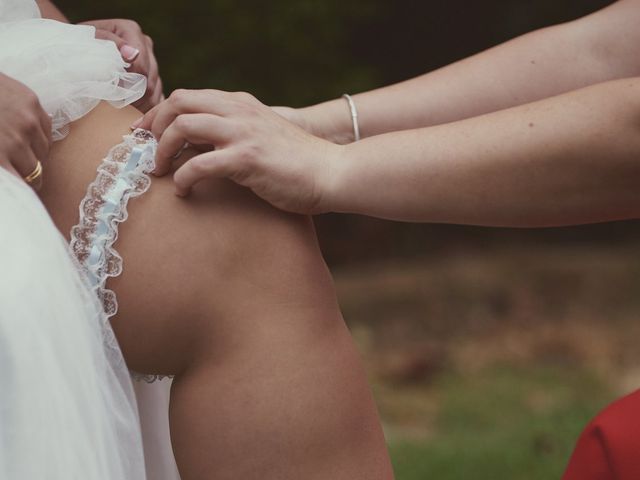
<path fill-rule="evenodd" d="M 24 179 L 49 155 L 51 119 L 35 93 L 2 73 L 0 91 L 0 167 Z"/>

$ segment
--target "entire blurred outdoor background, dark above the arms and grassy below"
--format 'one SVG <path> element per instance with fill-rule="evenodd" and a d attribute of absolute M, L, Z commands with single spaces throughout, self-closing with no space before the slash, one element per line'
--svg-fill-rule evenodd
<path fill-rule="evenodd" d="M 137 20 L 166 93 L 246 90 L 290 106 L 400 81 L 609 3 L 59 1 L 75 21 Z M 557 478 L 589 417 L 640 384 L 637 222 L 532 231 L 327 215 L 317 226 L 398 480 Z"/>

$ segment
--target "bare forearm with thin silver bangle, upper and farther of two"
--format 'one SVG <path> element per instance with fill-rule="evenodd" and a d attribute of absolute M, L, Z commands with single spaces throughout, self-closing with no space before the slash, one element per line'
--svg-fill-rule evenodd
<path fill-rule="evenodd" d="M 421 77 L 356 95 L 362 134 L 443 124 L 640 74 L 640 2 L 516 38 Z M 303 110 L 320 136 L 351 134 L 343 100 Z"/>

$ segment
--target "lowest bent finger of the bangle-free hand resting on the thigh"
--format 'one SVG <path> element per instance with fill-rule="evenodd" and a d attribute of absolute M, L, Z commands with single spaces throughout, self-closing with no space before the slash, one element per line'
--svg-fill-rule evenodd
<path fill-rule="evenodd" d="M 176 194 L 185 197 L 200 180 L 228 178 L 240 173 L 241 167 L 229 150 L 216 150 L 193 157 L 173 176 Z"/>

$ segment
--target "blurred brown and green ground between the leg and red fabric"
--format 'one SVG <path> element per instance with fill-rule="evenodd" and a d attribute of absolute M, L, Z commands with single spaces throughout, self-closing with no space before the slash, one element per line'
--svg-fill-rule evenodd
<path fill-rule="evenodd" d="M 539 245 L 337 269 L 397 480 L 560 478 L 640 385 L 638 259 Z"/>

